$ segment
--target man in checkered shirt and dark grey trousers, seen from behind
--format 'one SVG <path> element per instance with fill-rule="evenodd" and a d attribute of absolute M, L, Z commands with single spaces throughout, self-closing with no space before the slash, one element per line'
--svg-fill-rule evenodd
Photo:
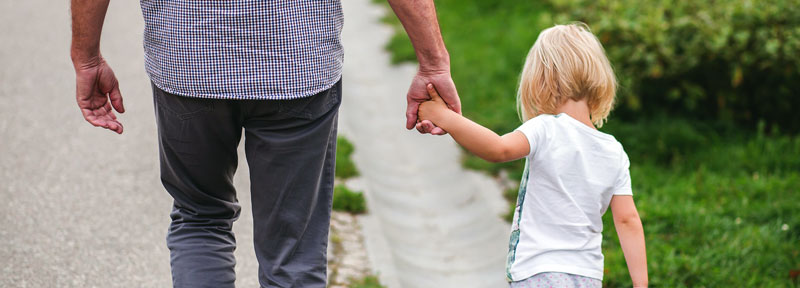
<path fill-rule="evenodd" d="M 86 121 L 116 133 L 125 111 L 100 53 L 109 0 L 72 0 L 71 56 Z M 406 128 L 433 83 L 450 107 L 450 77 L 432 0 L 391 0 L 420 66 Z M 174 199 L 167 236 L 175 287 L 233 287 L 240 206 L 232 184 L 245 133 L 262 287 L 325 287 L 336 125 L 341 101 L 338 0 L 141 0 L 161 181 Z"/>

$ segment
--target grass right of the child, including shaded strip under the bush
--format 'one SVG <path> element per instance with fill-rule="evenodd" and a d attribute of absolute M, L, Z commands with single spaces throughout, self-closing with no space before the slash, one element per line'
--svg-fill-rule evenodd
<path fill-rule="evenodd" d="M 796 287 L 800 136 L 670 123 L 607 128 L 631 157 L 652 286 Z M 630 287 L 611 213 L 603 220 L 604 286 Z"/>

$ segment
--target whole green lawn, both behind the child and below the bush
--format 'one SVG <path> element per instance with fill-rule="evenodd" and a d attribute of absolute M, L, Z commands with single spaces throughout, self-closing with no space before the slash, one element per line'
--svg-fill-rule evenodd
<path fill-rule="evenodd" d="M 518 74 L 539 31 L 539 1 L 436 1 L 464 115 L 498 133 L 516 128 Z M 394 15 L 386 22 L 400 27 Z M 589 23 L 591 24 L 591 23 Z M 393 61 L 413 61 L 399 28 Z M 729 124 L 642 115 L 602 130 L 631 159 L 653 287 L 797 287 L 800 271 L 800 136 Z M 467 167 L 519 179 L 522 162 Z M 513 199 L 513 195 L 509 195 Z M 605 287 L 630 287 L 611 214 L 604 217 Z"/>

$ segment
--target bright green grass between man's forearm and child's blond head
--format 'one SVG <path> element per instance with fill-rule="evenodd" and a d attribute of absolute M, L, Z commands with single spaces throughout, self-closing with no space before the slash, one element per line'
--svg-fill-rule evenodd
<path fill-rule="evenodd" d="M 539 31 L 552 24 L 547 7 L 539 1 L 440 0 L 436 11 L 464 115 L 494 131 L 513 130 L 519 72 Z M 388 13 L 384 20 L 398 32 L 387 44 L 392 61 L 414 61 L 397 18 Z"/>

